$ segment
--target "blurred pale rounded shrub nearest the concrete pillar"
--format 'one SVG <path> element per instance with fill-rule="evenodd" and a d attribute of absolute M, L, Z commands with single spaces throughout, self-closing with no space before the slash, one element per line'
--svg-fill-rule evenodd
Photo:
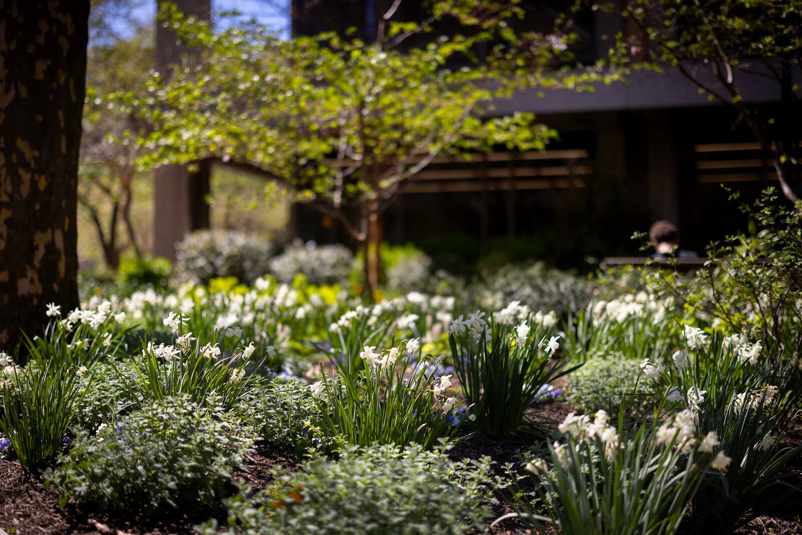
<path fill-rule="evenodd" d="M 200 230 L 189 234 L 176 250 L 176 277 L 207 284 L 216 277 L 236 277 L 251 284 L 267 273 L 270 244 L 233 230 Z"/>

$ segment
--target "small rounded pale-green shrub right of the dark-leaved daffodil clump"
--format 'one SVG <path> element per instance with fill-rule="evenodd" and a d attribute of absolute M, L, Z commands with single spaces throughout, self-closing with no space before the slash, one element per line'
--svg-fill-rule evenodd
<path fill-rule="evenodd" d="M 605 409 L 618 412 L 624 396 L 634 392 L 640 371 L 641 363 L 638 360 L 618 355 L 594 357 L 569 375 L 567 398 L 577 411 L 589 413 Z M 645 392 L 646 386 L 638 384 L 638 394 Z"/>

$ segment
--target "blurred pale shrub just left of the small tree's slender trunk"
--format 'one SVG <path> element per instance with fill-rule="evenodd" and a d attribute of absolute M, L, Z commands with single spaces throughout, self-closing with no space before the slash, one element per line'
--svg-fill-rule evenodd
<path fill-rule="evenodd" d="M 348 279 L 354 255 L 344 245 L 290 245 L 270 260 L 270 272 L 281 282 L 292 282 L 304 274 L 312 284 L 335 284 Z"/>

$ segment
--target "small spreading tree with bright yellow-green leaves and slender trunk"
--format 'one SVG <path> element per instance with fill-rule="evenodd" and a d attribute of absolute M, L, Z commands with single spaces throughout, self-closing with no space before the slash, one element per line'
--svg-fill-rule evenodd
<path fill-rule="evenodd" d="M 432 2 L 423 22 L 396 20 L 399 4 L 379 10 L 371 43 L 347 34 L 281 40 L 254 22 L 216 34 L 164 10 L 164 23 L 205 52 L 173 79 L 156 77 L 145 101 L 124 104 L 153 125 L 140 140 L 150 151 L 143 166 L 217 159 L 275 180 L 364 249 L 371 290 L 382 214 L 405 180 L 439 155 L 543 149 L 557 135 L 532 114 L 493 115 L 495 100 L 617 77 L 599 65 L 554 68 L 571 59 L 573 35 L 515 34 L 507 22 L 522 14 L 516 2 Z M 466 32 L 436 34 L 447 18 Z"/>

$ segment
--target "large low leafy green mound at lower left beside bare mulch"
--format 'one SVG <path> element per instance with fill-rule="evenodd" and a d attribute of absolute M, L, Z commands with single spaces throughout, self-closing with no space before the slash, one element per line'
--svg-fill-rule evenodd
<path fill-rule="evenodd" d="M 62 506 L 75 500 L 151 514 L 163 505 L 211 505 L 253 444 L 237 427 L 219 403 L 163 399 L 101 426 L 95 436 L 77 432 L 46 482 L 62 495 Z"/>

